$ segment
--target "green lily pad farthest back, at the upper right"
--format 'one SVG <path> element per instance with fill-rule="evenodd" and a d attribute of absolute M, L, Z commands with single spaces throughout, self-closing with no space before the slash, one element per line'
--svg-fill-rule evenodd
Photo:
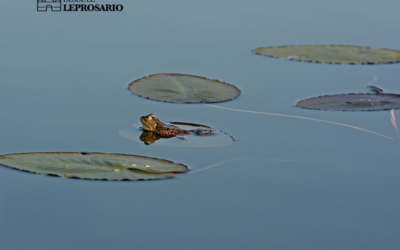
<path fill-rule="evenodd" d="M 338 64 L 384 64 L 400 62 L 400 51 L 347 45 L 292 45 L 261 47 L 255 53 L 296 61 Z"/>

